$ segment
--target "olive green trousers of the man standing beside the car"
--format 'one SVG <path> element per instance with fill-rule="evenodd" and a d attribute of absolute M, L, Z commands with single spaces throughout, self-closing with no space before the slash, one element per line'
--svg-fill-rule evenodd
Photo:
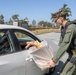
<path fill-rule="evenodd" d="M 72 58 L 73 57 L 76 57 L 76 55 L 73 55 Z M 60 75 L 76 75 L 76 61 L 74 63 L 69 61 Z"/>

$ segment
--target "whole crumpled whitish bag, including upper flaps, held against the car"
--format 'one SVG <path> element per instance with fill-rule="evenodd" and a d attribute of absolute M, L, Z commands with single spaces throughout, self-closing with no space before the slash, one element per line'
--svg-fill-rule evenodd
<path fill-rule="evenodd" d="M 49 47 L 46 41 L 42 41 L 41 45 L 43 47 L 40 49 L 36 49 L 35 47 L 30 48 L 30 54 L 32 55 L 32 58 L 37 66 L 41 70 L 44 70 L 49 67 L 48 62 L 53 57 L 53 50 Z"/>

